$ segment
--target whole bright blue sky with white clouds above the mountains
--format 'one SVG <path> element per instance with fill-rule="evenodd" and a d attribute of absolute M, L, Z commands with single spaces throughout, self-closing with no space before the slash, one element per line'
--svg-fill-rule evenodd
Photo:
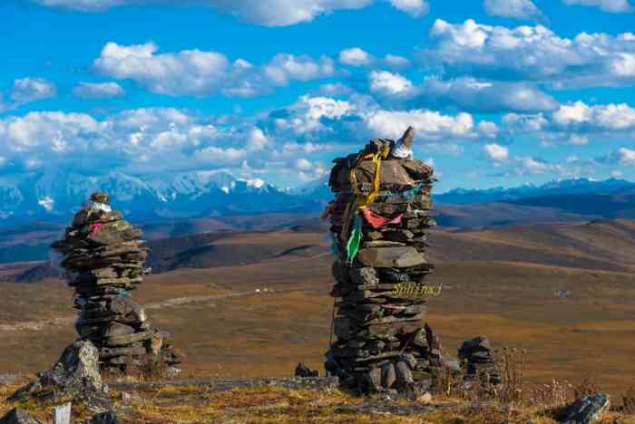
<path fill-rule="evenodd" d="M 0 175 L 324 178 L 418 130 L 438 188 L 635 179 L 627 0 L 5 0 Z"/>

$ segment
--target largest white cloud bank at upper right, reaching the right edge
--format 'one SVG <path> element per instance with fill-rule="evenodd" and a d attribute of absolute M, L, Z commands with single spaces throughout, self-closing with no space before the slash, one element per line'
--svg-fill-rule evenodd
<path fill-rule="evenodd" d="M 621 86 L 635 82 L 635 34 L 586 34 L 563 38 L 542 26 L 506 28 L 468 19 L 437 19 L 433 46 L 422 60 L 449 74 L 493 80 L 535 81 L 556 89 Z"/>

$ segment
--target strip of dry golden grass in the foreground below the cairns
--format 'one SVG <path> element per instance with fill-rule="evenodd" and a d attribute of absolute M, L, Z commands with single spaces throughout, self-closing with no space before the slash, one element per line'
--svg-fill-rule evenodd
<path fill-rule="evenodd" d="M 0 395 L 10 390 L 0 389 Z M 317 423 L 317 424 L 491 424 L 493 422 L 553 424 L 541 405 L 498 402 L 465 402 L 435 397 L 426 410 L 365 412 L 347 408 L 359 407 L 376 400 L 352 397 L 339 390 L 285 390 L 278 388 L 240 389 L 220 393 L 205 386 L 173 387 L 128 391 L 129 405 L 134 412 L 120 415 L 126 423 Z M 123 405 L 121 392 L 112 392 L 112 400 Z M 423 406 L 418 402 L 388 401 L 396 407 Z M 13 408 L 0 400 L 0 416 Z M 43 422 L 51 422 L 54 405 L 21 405 Z M 73 405 L 73 419 L 90 416 L 84 405 Z M 600 421 L 632 424 L 635 419 L 618 412 L 610 412 Z"/>

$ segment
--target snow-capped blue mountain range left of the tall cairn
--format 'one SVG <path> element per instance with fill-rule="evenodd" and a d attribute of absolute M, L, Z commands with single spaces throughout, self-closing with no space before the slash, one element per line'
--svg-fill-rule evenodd
<path fill-rule="evenodd" d="M 132 219 L 317 210 L 318 202 L 278 190 L 261 179 L 234 178 L 227 172 L 188 172 L 168 176 L 130 176 L 112 172 L 86 177 L 73 172 L 0 178 L 0 221 L 66 221 L 82 199 L 103 190 L 112 205 Z"/>

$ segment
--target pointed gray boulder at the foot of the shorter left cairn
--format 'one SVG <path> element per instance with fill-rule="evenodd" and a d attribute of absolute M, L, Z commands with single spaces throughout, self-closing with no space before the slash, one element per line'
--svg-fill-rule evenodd
<path fill-rule="evenodd" d="M 108 387 L 99 374 L 99 352 L 92 342 L 77 341 L 67 347 L 54 367 L 17 390 L 9 400 L 86 400 L 108 403 Z"/>

